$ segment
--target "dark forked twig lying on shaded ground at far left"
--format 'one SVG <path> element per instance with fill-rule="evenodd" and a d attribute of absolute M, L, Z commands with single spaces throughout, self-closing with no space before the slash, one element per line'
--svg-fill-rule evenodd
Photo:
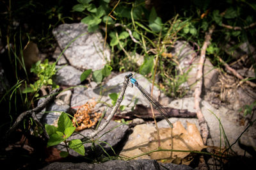
<path fill-rule="evenodd" d="M 42 111 L 45 106 L 47 104 L 49 104 L 49 102 L 51 102 L 51 100 L 55 97 L 56 93 L 58 93 L 58 91 L 60 91 L 60 88 L 54 89 L 51 91 L 51 93 L 49 94 L 49 96 L 47 98 L 45 98 L 45 100 L 42 102 L 42 104 L 38 105 L 36 108 L 30 110 L 30 111 L 26 111 L 26 112 L 22 112 L 22 114 L 20 114 L 17 118 L 17 120 L 15 121 L 15 123 L 13 123 L 12 127 L 8 130 L 8 132 L 6 133 L 6 135 L 10 135 L 15 129 L 17 129 L 17 127 L 19 126 L 20 122 L 26 118 L 27 116 L 31 116 L 33 118 L 33 120 L 36 121 L 36 123 L 38 123 L 38 125 L 40 125 L 40 127 L 43 128 L 42 124 L 40 123 L 40 121 L 38 121 L 38 119 L 36 118 L 36 113 Z M 47 135 L 47 133 L 44 130 L 44 135 L 45 137 L 49 136 Z"/>

